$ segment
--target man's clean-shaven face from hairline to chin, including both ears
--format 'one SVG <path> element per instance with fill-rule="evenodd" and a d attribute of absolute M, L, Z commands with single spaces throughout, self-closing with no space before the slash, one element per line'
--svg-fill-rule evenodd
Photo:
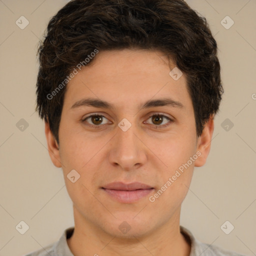
<path fill-rule="evenodd" d="M 197 138 L 186 77 L 174 80 L 174 67 L 160 51 L 101 51 L 67 84 L 59 149 L 47 123 L 45 132 L 77 221 L 132 236 L 179 220 L 193 167 L 209 152 L 213 121 Z"/>

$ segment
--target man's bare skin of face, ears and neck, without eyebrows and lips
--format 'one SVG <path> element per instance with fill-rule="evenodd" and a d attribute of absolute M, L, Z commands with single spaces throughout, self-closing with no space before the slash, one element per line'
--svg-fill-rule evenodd
<path fill-rule="evenodd" d="M 179 231 L 181 203 L 188 191 L 194 166 L 202 166 L 210 150 L 213 116 L 196 136 L 191 98 L 183 74 L 172 79 L 175 66 L 161 51 L 100 51 L 67 84 L 59 125 L 59 145 L 45 123 L 45 135 L 53 164 L 62 167 L 68 194 L 73 202 L 75 229 L 68 246 L 81 255 L 177 255 L 187 256 L 190 244 Z M 78 100 L 93 97 L 114 105 L 109 110 L 92 106 L 71 108 Z M 141 109 L 149 99 L 171 97 L 183 104 Z M 89 114 L 104 115 L 102 122 Z M 162 123 L 160 113 L 173 119 Z M 118 123 L 126 118 L 127 131 Z M 87 124 L 100 128 L 93 128 Z M 155 124 L 156 123 L 156 124 Z M 162 127 L 169 123 L 169 126 Z M 158 125 L 158 126 L 157 126 Z M 180 165 L 196 151 L 201 155 L 158 197 L 159 190 Z M 75 169 L 80 178 L 67 178 Z M 133 203 L 120 203 L 101 187 L 113 181 L 139 181 L 154 187 L 148 196 Z M 118 226 L 131 227 L 122 233 Z"/>

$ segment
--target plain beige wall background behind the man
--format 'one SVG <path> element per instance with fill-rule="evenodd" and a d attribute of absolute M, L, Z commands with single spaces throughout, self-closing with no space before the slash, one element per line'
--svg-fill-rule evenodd
<path fill-rule="evenodd" d="M 0 256 L 44 247 L 73 225 L 62 171 L 50 161 L 34 112 L 37 43 L 66 2 L 0 0 Z M 187 2 L 215 35 L 225 93 L 210 155 L 195 168 L 181 224 L 203 242 L 256 255 L 256 1 Z M 15 24 L 21 15 L 29 21 L 24 29 Z M 234 21 L 229 29 L 220 23 L 226 15 Z M 16 127 L 21 118 L 28 123 L 23 131 Z M 226 118 L 234 124 L 228 131 L 221 126 Z M 15 229 L 21 220 L 29 225 L 23 235 Z M 220 229 L 226 220 L 234 225 L 228 235 Z"/>

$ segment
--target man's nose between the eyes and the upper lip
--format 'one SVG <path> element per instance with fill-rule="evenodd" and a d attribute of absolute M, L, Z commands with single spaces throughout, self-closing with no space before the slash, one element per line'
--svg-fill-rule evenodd
<path fill-rule="evenodd" d="M 117 134 L 111 140 L 109 161 L 120 169 L 132 170 L 147 160 L 146 146 L 135 125 L 123 131 L 117 127 Z"/>

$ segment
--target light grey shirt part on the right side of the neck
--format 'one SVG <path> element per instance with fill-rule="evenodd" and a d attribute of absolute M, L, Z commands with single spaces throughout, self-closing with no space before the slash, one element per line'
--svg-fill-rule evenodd
<path fill-rule="evenodd" d="M 233 251 L 220 248 L 217 245 L 202 243 L 198 241 L 193 234 L 183 226 L 180 226 L 180 232 L 189 240 L 191 251 L 189 256 L 245 256 Z"/>

